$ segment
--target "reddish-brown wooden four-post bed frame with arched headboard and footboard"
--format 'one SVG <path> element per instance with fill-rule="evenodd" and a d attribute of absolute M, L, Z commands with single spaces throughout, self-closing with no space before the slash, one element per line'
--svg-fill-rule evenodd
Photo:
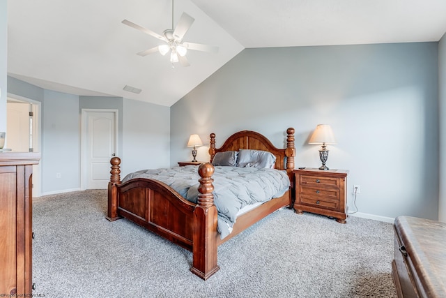
<path fill-rule="evenodd" d="M 220 148 L 215 148 L 215 134 L 210 134 L 210 162 L 217 152 L 238 149 L 270 151 L 276 156 L 275 168 L 286 170 L 293 183 L 294 128 L 288 128 L 286 149 L 278 149 L 260 133 L 240 131 L 229 137 Z M 224 239 L 217 232 L 217 208 L 213 202 L 213 172 L 211 163 L 199 165 L 199 198 L 193 204 L 173 188 L 155 179 L 137 178 L 121 184 L 121 159 L 111 159 L 112 170 L 108 186 L 107 219 L 130 221 L 155 232 L 193 253 L 192 271 L 206 280 L 215 274 L 217 246 L 231 239 L 268 214 L 285 206 L 292 208 L 291 188 L 280 198 L 272 199 L 237 218 L 233 231 Z"/>

